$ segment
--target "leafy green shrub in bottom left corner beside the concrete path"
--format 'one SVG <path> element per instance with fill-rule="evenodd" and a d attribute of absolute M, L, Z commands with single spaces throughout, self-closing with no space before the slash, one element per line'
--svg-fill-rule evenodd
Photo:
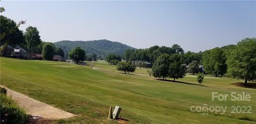
<path fill-rule="evenodd" d="M 20 108 L 12 97 L 1 95 L 1 123 L 21 124 L 26 123 L 28 115 Z"/>

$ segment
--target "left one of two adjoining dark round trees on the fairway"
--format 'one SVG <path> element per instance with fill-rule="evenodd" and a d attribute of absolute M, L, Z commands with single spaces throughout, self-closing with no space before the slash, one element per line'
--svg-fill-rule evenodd
<path fill-rule="evenodd" d="M 168 54 L 162 54 L 159 57 L 157 57 L 152 67 L 154 77 L 162 79 L 169 77 L 169 58 L 170 56 Z"/>

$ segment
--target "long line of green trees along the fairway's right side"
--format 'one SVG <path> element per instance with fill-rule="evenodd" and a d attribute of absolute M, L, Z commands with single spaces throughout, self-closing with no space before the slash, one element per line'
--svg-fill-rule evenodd
<path fill-rule="evenodd" d="M 153 64 L 152 74 L 156 78 L 182 78 L 187 72 L 199 72 L 215 77 L 233 77 L 252 81 L 256 79 L 256 38 L 242 39 L 237 45 L 215 47 L 204 52 L 184 52 L 174 44 L 172 47 L 152 46 L 146 49 L 127 49 L 123 59 L 127 63 L 134 60 L 148 61 Z M 123 63 L 122 63 L 123 64 Z M 150 73 L 150 74 L 151 74 Z M 200 76 L 202 79 L 202 76 Z M 200 80 L 201 80 L 200 79 Z"/>

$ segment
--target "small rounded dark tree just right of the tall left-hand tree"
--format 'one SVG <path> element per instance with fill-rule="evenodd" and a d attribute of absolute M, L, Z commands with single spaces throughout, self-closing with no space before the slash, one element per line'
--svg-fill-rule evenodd
<path fill-rule="evenodd" d="M 45 60 L 53 60 L 53 56 L 55 53 L 54 45 L 52 43 L 46 43 L 43 45 L 43 58 Z"/>

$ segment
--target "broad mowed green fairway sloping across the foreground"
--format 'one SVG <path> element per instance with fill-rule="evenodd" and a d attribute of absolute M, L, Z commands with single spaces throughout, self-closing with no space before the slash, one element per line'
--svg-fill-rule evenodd
<path fill-rule="evenodd" d="M 125 75 L 115 71 L 114 65 L 94 65 L 91 69 L 65 62 L 1 57 L 1 85 L 77 114 L 55 123 L 256 123 L 256 89 L 231 85 L 235 79 L 205 77 L 205 86 L 199 86 L 195 76 L 178 79 L 183 83 L 161 81 Z M 212 92 L 246 92 L 251 101 L 231 102 L 230 97 L 212 101 Z M 228 108 L 223 115 L 190 112 L 190 106 L 203 104 Z M 121 106 L 121 117 L 129 121 L 107 120 L 109 106 L 115 105 Z M 252 113 L 231 114 L 233 105 L 250 105 Z"/>

